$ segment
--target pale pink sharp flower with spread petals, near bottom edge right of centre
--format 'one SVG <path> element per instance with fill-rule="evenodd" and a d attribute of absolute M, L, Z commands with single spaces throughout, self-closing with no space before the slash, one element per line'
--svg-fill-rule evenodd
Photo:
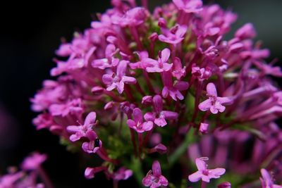
<path fill-rule="evenodd" d="M 219 178 L 225 173 L 224 168 L 207 169 L 207 163 L 204 161 L 209 160 L 207 157 L 196 158 L 196 165 L 198 171 L 189 175 L 190 182 L 197 182 L 202 179 L 204 182 L 209 182 L 212 178 Z"/>

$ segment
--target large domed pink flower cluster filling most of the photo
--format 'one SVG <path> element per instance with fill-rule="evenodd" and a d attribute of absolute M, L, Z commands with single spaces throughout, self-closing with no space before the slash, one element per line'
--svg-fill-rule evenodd
<path fill-rule="evenodd" d="M 237 15 L 216 4 L 173 0 L 150 13 L 147 1 L 111 3 L 56 51 L 56 80 L 31 99 L 37 129 L 58 134 L 68 149 L 97 153 L 101 165 L 85 177 L 104 172 L 115 186 L 131 175 L 146 187 L 168 186 L 175 163 L 202 187 L 223 174 L 230 180 L 211 180 L 213 187 L 255 186 L 262 167 L 279 180 L 282 92 L 271 77 L 282 71 L 266 62 L 253 25 L 226 39 Z M 208 169 L 202 156 L 223 168 Z M 261 180 L 279 187 L 266 170 Z"/>

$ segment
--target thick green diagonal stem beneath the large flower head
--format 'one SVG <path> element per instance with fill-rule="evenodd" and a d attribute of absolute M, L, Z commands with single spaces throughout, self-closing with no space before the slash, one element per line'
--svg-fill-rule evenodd
<path fill-rule="evenodd" d="M 180 156 L 182 156 L 183 153 L 185 153 L 185 151 L 187 151 L 187 148 L 188 148 L 189 144 L 192 142 L 192 139 L 193 139 L 192 134 L 193 134 L 193 131 L 189 130 L 188 133 L 186 134 L 185 139 L 183 140 L 182 144 L 180 146 L 178 146 L 176 151 L 174 151 L 171 154 L 171 156 L 168 157 L 168 162 L 169 162 L 170 166 L 172 166 L 174 163 L 176 163 L 178 158 L 180 158 Z"/>

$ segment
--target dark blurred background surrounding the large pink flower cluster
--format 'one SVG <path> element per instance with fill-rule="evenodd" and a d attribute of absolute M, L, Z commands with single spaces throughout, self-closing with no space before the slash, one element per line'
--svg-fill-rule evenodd
<path fill-rule="evenodd" d="M 168 1 L 151 0 L 151 7 Z M 254 23 L 264 47 L 272 58 L 280 58 L 282 47 L 281 0 L 219 0 L 218 3 L 238 13 L 238 22 Z M 54 66 L 51 59 L 60 38 L 71 40 L 74 31 L 90 27 L 94 13 L 103 13 L 108 1 L 9 1 L 1 8 L 0 35 L 0 174 L 10 165 L 18 165 L 31 151 L 48 153 L 44 168 L 55 187 L 111 187 L 99 175 L 85 180 L 85 165 L 79 166 L 78 154 L 69 153 L 59 145 L 59 138 L 47 130 L 36 131 L 31 120 L 30 97 L 50 78 Z M 82 167 L 82 168 L 81 168 Z M 103 182 L 103 183 L 102 183 Z M 126 187 L 128 183 L 121 184 Z M 135 187 L 131 184 L 130 187 Z M 137 186 L 136 186 L 137 187 Z"/>

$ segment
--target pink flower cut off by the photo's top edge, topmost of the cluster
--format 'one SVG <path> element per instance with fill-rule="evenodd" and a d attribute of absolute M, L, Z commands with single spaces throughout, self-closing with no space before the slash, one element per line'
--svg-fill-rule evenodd
<path fill-rule="evenodd" d="M 173 0 L 177 8 L 185 11 L 185 13 L 198 13 L 202 11 L 201 0 Z"/>

